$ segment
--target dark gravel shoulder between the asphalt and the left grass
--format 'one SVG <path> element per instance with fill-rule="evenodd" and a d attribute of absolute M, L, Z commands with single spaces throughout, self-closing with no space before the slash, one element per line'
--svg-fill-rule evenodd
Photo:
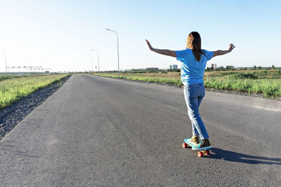
<path fill-rule="evenodd" d="M 20 98 L 19 101 L 0 110 L 0 140 L 8 134 L 22 119 L 24 119 L 34 108 L 43 103 L 46 98 L 57 91 L 60 86 L 71 77 L 67 76 L 58 82 L 46 86 L 43 89 L 34 91 L 29 96 Z"/>

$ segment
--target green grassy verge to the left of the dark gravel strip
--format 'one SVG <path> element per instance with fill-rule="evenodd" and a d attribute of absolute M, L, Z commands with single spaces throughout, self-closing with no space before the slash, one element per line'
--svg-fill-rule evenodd
<path fill-rule="evenodd" d="M 19 98 L 25 97 L 37 91 L 58 82 L 67 75 L 31 75 L 31 76 L 13 76 L 0 75 L 0 109 L 11 105 Z"/>

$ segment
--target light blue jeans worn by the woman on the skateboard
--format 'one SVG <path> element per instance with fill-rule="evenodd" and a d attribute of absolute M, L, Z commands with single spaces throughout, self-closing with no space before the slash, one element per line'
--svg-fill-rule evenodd
<path fill-rule="evenodd" d="M 207 129 L 200 117 L 199 106 L 205 96 L 204 84 L 189 84 L 183 89 L 188 116 L 192 123 L 192 134 L 200 135 L 201 139 L 209 138 Z"/>

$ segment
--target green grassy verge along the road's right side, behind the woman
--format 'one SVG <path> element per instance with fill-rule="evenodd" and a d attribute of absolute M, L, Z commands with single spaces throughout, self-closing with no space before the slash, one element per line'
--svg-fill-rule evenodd
<path fill-rule="evenodd" d="M 118 77 L 117 73 L 100 73 L 100 76 Z M 120 78 L 181 85 L 181 77 L 178 72 L 121 73 Z M 281 98 L 280 70 L 205 72 L 204 84 L 213 89 L 263 94 L 266 98 Z"/>

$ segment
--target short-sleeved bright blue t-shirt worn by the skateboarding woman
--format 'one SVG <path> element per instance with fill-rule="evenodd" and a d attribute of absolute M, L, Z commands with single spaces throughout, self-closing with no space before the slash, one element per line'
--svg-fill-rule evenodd
<path fill-rule="evenodd" d="M 176 51 L 176 59 L 181 61 L 181 80 L 183 85 L 204 84 L 203 75 L 207 61 L 213 57 L 213 51 L 202 49 L 204 55 L 201 55 L 200 62 L 196 60 L 192 49 Z"/>

